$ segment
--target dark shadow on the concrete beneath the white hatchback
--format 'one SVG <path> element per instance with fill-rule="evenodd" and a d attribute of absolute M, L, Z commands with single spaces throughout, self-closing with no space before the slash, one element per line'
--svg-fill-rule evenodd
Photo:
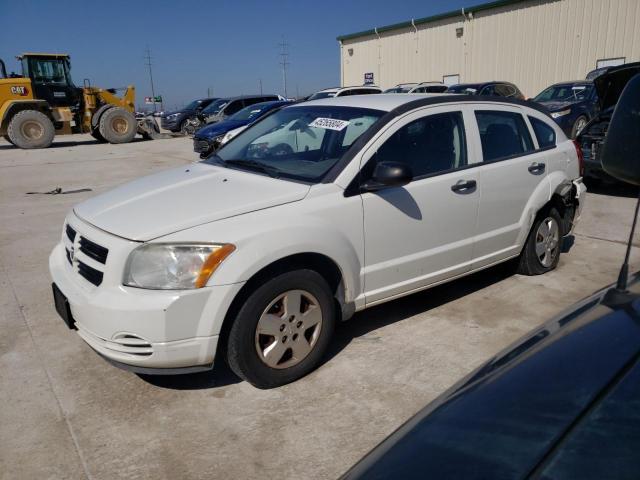
<path fill-rule="evenodd" d="M 570 247 L 569 247 L 570 248 Z M 351 320 L 337 326 L 323 363 L 337 356 L 352 340 L 368 333 L 424 313 L 482 290 L 514 275 L 513 261 L 469 275 L 437 287 L 414 293 L 357 313 Z M 241 382 L 224 361 L 217 361 L 213 371 L 187 375 L 138 375 L 142 380 L 161 388 L 201 390 L 224 387 Z"/>

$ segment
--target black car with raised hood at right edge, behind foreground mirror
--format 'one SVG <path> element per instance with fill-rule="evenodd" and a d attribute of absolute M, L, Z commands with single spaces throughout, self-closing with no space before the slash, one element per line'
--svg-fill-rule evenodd
<path fill-rule="evenodd" d="M 585 125 L 576 139 L 584 156 L 586 177 L 613 180 L 602 169 L 600 150 L 609 128 L 613 109 L 627 82 L 638 73 L 640 73 L 640 62 L 627 63 L 618 67 L 608 67 L 606 73 L 593 81 L 598 97 L 598 113 Z"/>

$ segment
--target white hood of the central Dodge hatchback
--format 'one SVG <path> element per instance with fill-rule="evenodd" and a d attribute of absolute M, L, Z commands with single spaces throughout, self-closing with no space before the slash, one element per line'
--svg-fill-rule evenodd
<path fill-rule="evenodd" d="M 302 200 L 309 186 L 196 163 L 122 185 L 74 208 L 114 235 L 147 241 L 223 218 Z"/>

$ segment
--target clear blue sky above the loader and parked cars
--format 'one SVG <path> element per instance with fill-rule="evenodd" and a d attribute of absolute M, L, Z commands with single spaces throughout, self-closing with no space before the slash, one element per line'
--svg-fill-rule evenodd
<path fill-rule="evenodd" d="M 289 95 L 339 84 L 336 36 L 420 18 L 481 0 L 0 0 L 0 58 L 18 70 L 24 51 L 71 55 L 77 85 L 136 85 L 150 95 L 144 65 L 153 56 L 156 94 L 166 107 L 205 96 L 282 93 L 278 43 L 289 44 Z"/>

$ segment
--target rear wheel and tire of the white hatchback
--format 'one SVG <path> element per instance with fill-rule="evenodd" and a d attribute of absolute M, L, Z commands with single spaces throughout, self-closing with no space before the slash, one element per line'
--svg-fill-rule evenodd
<path fill-rule="evenodd" d="M 555 208 L 538 214 L 518 259 L 518 273 L 541 275 L 556 268 L 560 260 L 561 227 L 562 218 Z M 545 235 L 545 231 L 549 234 Z"/>

